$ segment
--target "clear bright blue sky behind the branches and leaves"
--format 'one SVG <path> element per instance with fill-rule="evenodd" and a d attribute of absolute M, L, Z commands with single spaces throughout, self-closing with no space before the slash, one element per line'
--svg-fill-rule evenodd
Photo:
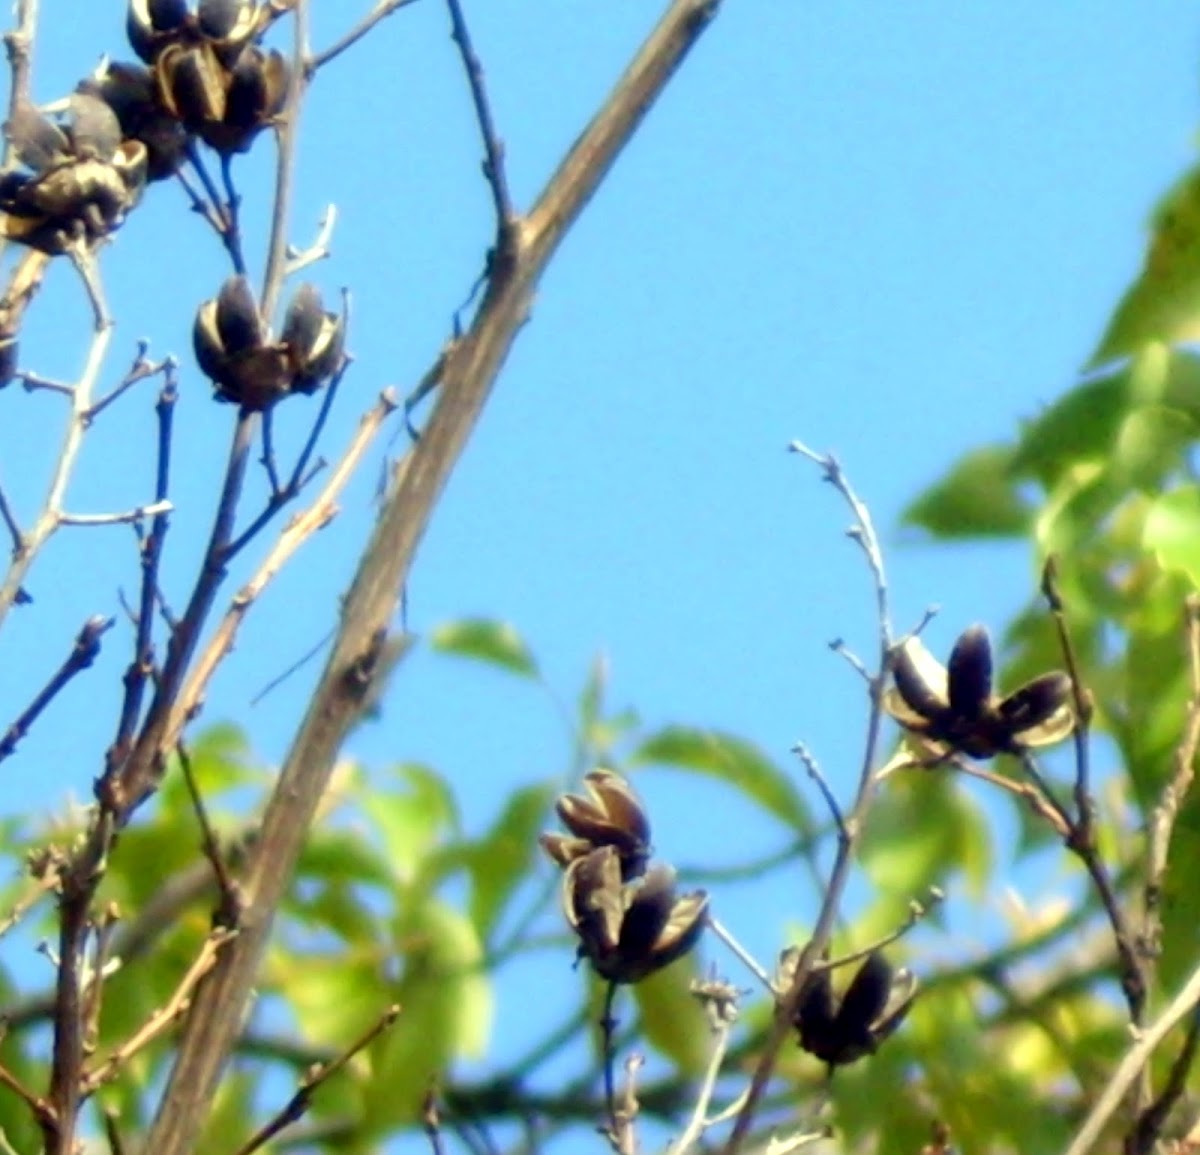
<path fill-rule="evenodd" d="M 314 7 L 319 44 L 366 4 Z M 518 205 L 656 7 L 468 4 Z M 40 100 L 66 92 L 100 52 L 126 54 L 116 0 L 42 8 Z M 802 438 L 840 455 L 888 546 L 898 626 L 942 606 L 935 650 L 1026 599 L 1026 550 L 931 547 L 900 532 L 899 514 L 1085 360 L 1139 267 L 1151 205 L 1193 160 L 1196 31 L 1193 7 L 1166 0 L 726 0 L 546 277 L 420 553 L 410 626 L 503 617 L 568 695 L 604 651 L 614 702 L 650 723 L 737 731 L 780 761 L 803 738 L 847 790 L 864 704 L 826 644 L 870 646 L 870 590 L 841 537 L 845 510 L 785 447 Z M 295 239 L 337 204 L 335 255 L 313 279 L 329 294 L 350 286 L 355 301 L 355 366 L 330 453 L 382 385 L 420 377 L 476 276 L 491 229 L 479 158 L 434 0 L 392 17 L 318 78 Z M 253 231 L 266 150 L 238 170 Z M 209 528 L 233 417 L 190 363 L 193 309 L 226 269 L 181 201 L 174 187 L 152 188 L 104 255 L 119 322 L 113 377 L 139 336 L 185 359 L 167 570 L 176 602 Z M 66 270 L 53 280 L 30 312 L 24 360 L 70 376 L 83 312 Z M 56 402 L 0 396 L 0 480 L 18 508 L 41 493 Z M 149 394 L 100 423 L 73 509 L 149 499 L 151 429 Z M 145 449 L 131 451 L 130 438 Z M 377 454 L 338 521 L 256 609 L 212 687 L 204 719 L 246 725 L 264 760 L 286 749 L 319 668 L 252 711 L 246 700 L 332 624 L 379 468 Z M 84 617 L 116 612 L 118 587 L 134 581 L 121 531 L 56 540 L 30 581 L 36 604 L 7 623 L 0 716 L 14 716 Z M 126 660 L 116 630 L 6 767 L 0 806 L 46 813 L 88 795 Z M 560 771 L 566 744 L 535 690 L 418 653 L 383 719 L 348 752 L 376 765 L 430 761 L 460 790 L 467 820 L 481 822 L 511 786 Z M 679 860 L 727 861 L 774 834 L 731 810 L 719 788 L 652 776 L 644 790 L 670 804 L 656 840 Z M 756 911 L 748 938 L 762 950 L 803 918 L 804 902 L 788 902 Z"/>

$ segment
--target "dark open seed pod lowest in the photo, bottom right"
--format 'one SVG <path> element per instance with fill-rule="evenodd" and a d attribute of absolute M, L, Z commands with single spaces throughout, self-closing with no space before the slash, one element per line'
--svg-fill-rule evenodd
<path fill-rule="evenodd" d="M 904 1022 L 917 997 L 917 980 L 907 970 L 893 973 L 882 951 L 872 951 L 846 987 L 833 992 L 828 967 L 804 985 L 794 1025 L 800 1046 L 830 1069 L 874 1054 Z"/>

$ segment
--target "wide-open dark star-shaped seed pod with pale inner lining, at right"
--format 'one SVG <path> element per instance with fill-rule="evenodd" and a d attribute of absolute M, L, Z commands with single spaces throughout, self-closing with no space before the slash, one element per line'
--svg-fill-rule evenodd
<path fill-rule="evenodd" d="M 1070 678 L 1043 674 L 1001 696 L 992 687 L 991 642 L 982 626 L 965 630 L 942 666 L 918 638 L 892 654 L 894 687 L 884 708 L 906 730 L 944 753 L 971 758 L 1052 746 L 1075 726 Z"/>

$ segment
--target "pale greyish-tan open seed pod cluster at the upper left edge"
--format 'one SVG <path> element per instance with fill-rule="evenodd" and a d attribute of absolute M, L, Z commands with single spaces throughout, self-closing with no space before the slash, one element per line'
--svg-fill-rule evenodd
<path fill-rule="evenodd" d="M 5 130 L 30 169 L 0 174 L 0 232 L 12 240 L 49 253 L 95 241 L 119 228 L 142 196 L 145 145 L 121 140 L 115 114 L 94 96 L 71 97 L 65 127 L 25 107 Z"/>

